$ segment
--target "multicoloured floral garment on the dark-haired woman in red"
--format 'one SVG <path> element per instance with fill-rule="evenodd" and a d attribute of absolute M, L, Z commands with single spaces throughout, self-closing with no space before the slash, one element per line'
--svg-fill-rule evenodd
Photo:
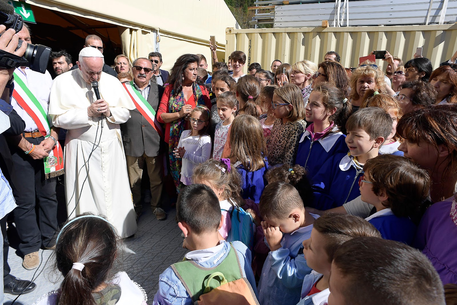
<path fill-rule="evenodd" d="M 169 85 L 172 86 L 172 85 Z M 194 92 L 195 106 L 192 105 L 192 108 L 197 106 L 205 106 L 205 101 L 203 99 L 204 95 L 202 89 L 197 83 L 193 83 L 192 91 Z M 177 96 L 174 96 L 175 91 L 171 90 L 170 100 L 168 101 L 168 112 L 179 112 L 181 108 L 186 104 L 186 99 L 184 98 L 184 92 L 180 92 Z M 179 139 L 181 138 L 182 132 L 186 129 L 186 120 L 184 118 L 179 118 L 170 123 L 170 140 L 168 141 L 168 155 L 170 156 L 170 169 L 173 180 L 175 181 L 176 191 L 179 193 L 179 184 L 180 184 L 180 173 L 182 159 L 176 159 L 173 154 L 173 150 L 178 147 Z"/>

